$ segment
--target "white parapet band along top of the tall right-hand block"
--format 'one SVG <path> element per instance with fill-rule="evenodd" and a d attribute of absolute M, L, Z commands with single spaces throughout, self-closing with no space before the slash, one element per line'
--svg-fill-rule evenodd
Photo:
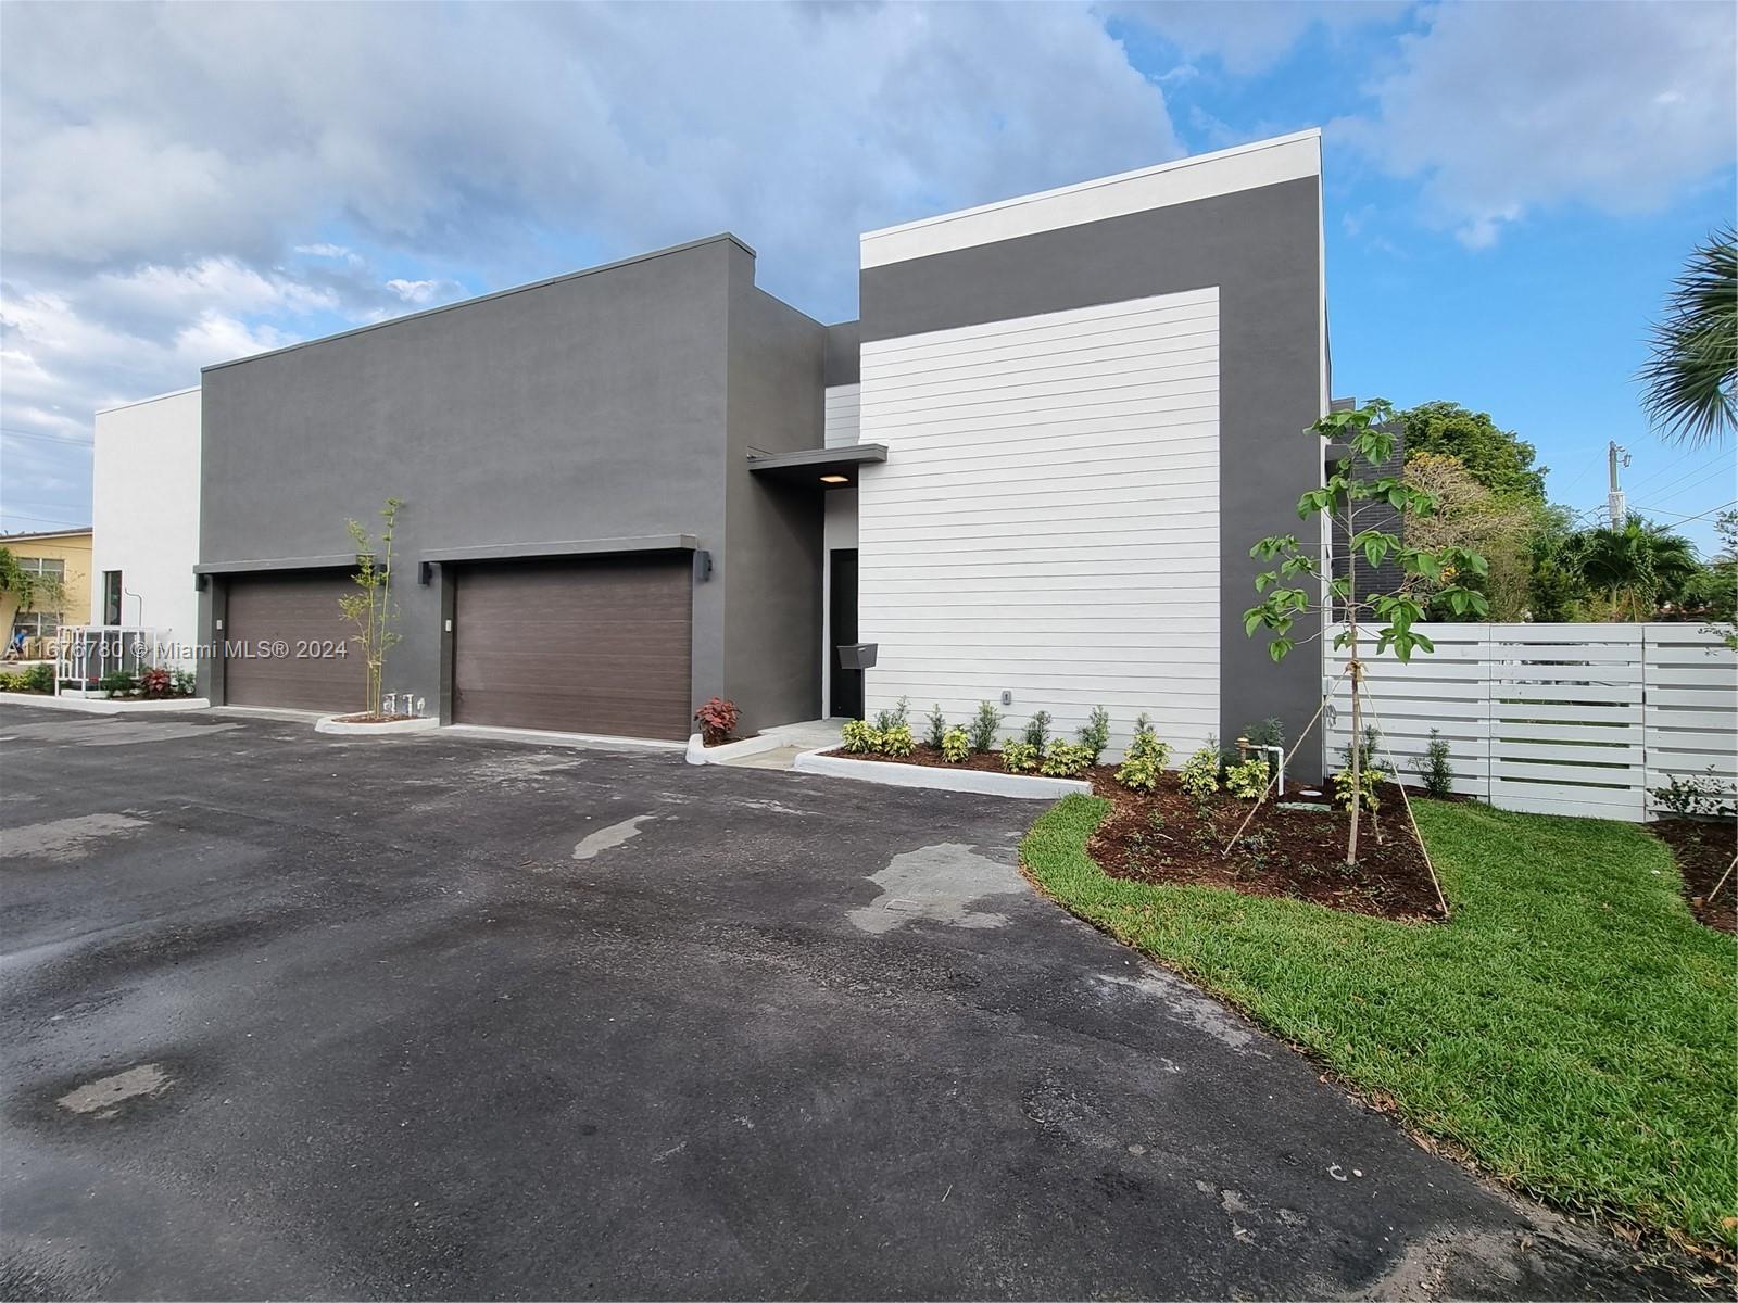
<path fill-rule="evenodd" d="M 866 231 L 859 236 L 862 266 L 866 269 L 879 268 L 888 262 L 904 262 L 1314 175 L 1321 175 L 1321 129 L 1317 127 L 1293 136 L 1239 144 L 1234 149 L 1177 158 L 1114 177 L 1083 181 L 1076 186 L 1020 195 L 977 208 L 944 212 L 937 217 Z"/>

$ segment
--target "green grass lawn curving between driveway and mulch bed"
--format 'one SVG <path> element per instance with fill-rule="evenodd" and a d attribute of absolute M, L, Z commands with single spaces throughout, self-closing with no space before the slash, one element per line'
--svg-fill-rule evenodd
<path fill-rule="evenodd" d="M 1529 1194 L 1738 1246 L 1738 943 L 1639 827 L 1418 803 L 1446 924 L 1107 877 L 1107 810 L 1022 843 L 1060 903 L 1309 1046 Z"/>

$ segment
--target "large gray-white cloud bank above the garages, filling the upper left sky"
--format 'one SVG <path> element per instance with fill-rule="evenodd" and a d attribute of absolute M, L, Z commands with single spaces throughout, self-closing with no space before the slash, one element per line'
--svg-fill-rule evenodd
<path fill-rule="evenodd" d="M 860 229 L 1180 153 L 1085 5 L 311 12 L 0 7 L 7 426 L 85 429 L 222 349 L 574 245 L 733 229 L 768 288 L 845 314 Z"/>

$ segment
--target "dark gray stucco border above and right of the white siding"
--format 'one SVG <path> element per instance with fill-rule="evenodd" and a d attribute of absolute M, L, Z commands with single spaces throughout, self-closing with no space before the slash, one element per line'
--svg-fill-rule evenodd
<path fill-rule="evenodd" d="M 1321 483 L 1321 208 L 1316 179 L 1111 217 L 869 268 L 862 339 L 1218 287 L 1220 304 L 1220 740 L 1277 716 L 1314 777 L 1321 747 L 1300 737 L 1321 700 L 1314 643 L 1272 664 L 1243 632 L 1258 566 L 1250 546 L 1298 532 L 1297 499 Z M 1307 638 L 1314 629 L 1298 631 Z"/>

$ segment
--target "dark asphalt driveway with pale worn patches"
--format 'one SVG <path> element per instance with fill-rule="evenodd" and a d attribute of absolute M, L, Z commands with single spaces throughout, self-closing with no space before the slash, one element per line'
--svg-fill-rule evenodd
<path fill-rule="evenodd" d="M 1025 803 L 0 707 L 0 1294 L 1668 1287 L 1018 877 Z"/>

